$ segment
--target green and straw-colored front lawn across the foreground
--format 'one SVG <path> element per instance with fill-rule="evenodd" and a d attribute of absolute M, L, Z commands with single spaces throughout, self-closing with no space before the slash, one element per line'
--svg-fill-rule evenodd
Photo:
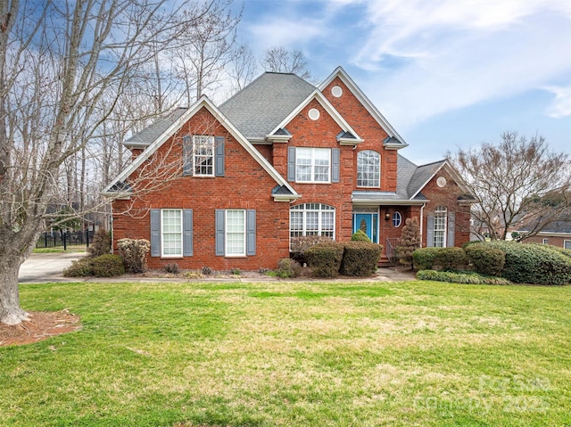
<path fill-rule="evenodd" d="M 565 426 L 571 287 L 21 286 L 83 330 L 0 348 L 0 424 Z"/>

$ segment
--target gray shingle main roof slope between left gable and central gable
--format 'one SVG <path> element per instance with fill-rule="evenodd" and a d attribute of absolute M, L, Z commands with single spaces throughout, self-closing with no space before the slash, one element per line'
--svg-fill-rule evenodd
<path fill-rule="evenodd" d="M 263 139 L 315 89 L 295 74 L 266 72 L 219 110 L 246 138 Z"/>

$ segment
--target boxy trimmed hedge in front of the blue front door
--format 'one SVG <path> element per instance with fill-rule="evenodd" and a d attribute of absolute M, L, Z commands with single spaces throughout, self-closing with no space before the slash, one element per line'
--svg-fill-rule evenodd
<path fill-rule="evenodd" d="M 378 260 L 383 252 L 382 245 L 371 242 L 345 242 L 343 248 L 343 259 L 340 269 L 342 275 L 362 276 L 370 275 L 377 271 Z"/>

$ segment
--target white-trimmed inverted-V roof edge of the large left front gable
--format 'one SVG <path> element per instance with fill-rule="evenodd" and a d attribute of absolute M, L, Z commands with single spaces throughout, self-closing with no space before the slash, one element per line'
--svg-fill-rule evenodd
<path fill-rule="evenodd" d="M 167 127 L 151 144 L 148 145 L 148 147 L 145 149 L 145 152 L 142 152 L 135 160 L 133 160 L 130 165 L 128 165 L 127 168 L 123 169 L 120 175 L 113 179 L 112 182 L 107 185 L 107 187 L 105 187 L 102 193 L 104 195 L 115 197 L 128 195 L 130 188 L 128 188 L 128 185 L 124 185 L 128 177 L 133 174 L 137 168 L 139 168 L 145 162 L 145 160 L 149 159 L 153 152 L 156 152 L 162 144 L 168 141 L 170 136 L 174 135 L 178 129 L 186 123 L 186 121 L 191 119 L 194 114 L 203 108 L 209 111 L 212 116 L 214 116 L 214 118 L 217 119 L 219 123 L 236 138 L 238 144 L 241 144 L 244 147 L 245 151 L 248 152 L 253 157 L 253 159 L 256 160 L 261 165 L 261 167 L 266 170 L 266 172 L 269 173 L 269 176 L 276 181 L 277 185 L 282 187 L 282 191 L 279 192 L 279 196 L 281 196 L 279 197 L 279 200 L 285 200 L 287 197 L 289 197 L 289 199 L 296 199 L 300 197 L 299 194 L 295 192 L 294 188 L 289 185 L 287 181 L 285 181 L 284 177 L 282 177 L 277 172 L 277 170 L 269 164 L 268 160 L 266 160 L 261 155 L 261 153 L 248 142 L 244 135 L 242 135 L 240 131 L 236 129 L 236 127 L 219 111 L 218 108 L 216 108 L 213 103 L 211 103 L 211 101 L 206 96 L 202 96 L 196 103 L 194 103 L 192 107 L 186 109 L 186 111 L 180 114 L 177 119 L 171 120 L 170 126 Z M 162 125 L 162 127 L 164 127 L 164 125 Z M 153 135 L 153 132 L 147 132 L 147 135 Z M 289 195 L 286 197 L 285 193 L 289 193 Z"/>

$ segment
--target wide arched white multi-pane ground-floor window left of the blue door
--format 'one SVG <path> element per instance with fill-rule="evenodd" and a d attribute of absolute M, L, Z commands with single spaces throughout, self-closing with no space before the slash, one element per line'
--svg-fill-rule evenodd
<path fill-rule="evenodd" d="M 291 237 L 321 235 L 335 239 L 335 208 L 323 203 L 304 203 L 290 209 Z"/>

